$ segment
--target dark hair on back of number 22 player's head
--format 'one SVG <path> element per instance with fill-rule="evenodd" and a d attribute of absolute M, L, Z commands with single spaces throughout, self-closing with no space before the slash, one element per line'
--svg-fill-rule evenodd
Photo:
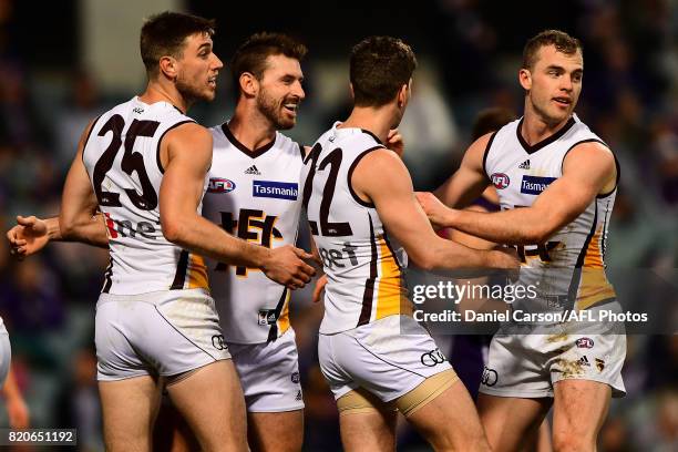
<path fill-rule="evenodd" d="M 350 80 L 357 106 L 381 106 L 408 84 L 417 68 L 412 49 L 400 39 L 370 37 L 351 50 Z"/>

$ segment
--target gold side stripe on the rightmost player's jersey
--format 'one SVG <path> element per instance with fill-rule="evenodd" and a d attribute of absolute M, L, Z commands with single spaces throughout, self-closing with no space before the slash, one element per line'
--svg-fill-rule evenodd
<path fill-rule="evenodd" d="M 616 298 L 615 289 L 605 275 L 600 248 L 603 234 L 604 225 L 600 225 L 586 247 L 577 297 L 577 309 L 589 309 L 600 301 Z"/>

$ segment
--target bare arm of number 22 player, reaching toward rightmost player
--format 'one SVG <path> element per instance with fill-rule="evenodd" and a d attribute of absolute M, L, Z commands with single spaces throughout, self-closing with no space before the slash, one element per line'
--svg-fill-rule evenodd
<path fill-rule="evenodd" d="M 374 174 L 379 173 L 377 179 Z M 517 260 L 503 251 L 474 250 L 439 237 L 414 198 L 412 181 L 402 161 L 386 150 L 372 151 L 356 167 L 351 184 L 371 201 L 386 228 L 424 269 L 515 268 Z"/>

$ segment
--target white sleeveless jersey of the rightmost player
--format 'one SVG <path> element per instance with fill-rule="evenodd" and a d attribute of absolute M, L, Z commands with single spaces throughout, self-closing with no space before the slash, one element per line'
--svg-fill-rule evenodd
<path fill-rule="evenodd" d="M 502 209 L 531 206 L 563 175 L 563 161 L 576 145 L 598 142 L 607 146 L 576 115 L 532 146 L 521 135 L 522 123 L 522 119 L 514 121 L 494 133 L 483 158 Z M 535 285 L 538 294 L 536 299 L 521 299 L 522 308 L 531 312 L 586 309 L 615 298 L 605 275 L 605 248 L 616 193 L 615 186 L 598 195 L 546 243 L 517 247 L 523 261 L 518 284 Z"/>

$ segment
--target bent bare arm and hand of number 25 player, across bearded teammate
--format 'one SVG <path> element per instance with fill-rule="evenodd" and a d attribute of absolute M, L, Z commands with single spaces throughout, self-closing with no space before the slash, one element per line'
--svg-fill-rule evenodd
<path fill-rule="evenodd" d="M 289 287 L 302 287 L 314 268 L 302 258 L 311 255 L 285 246 L 265 248 L 238 239 L 198 214 L 205 174 L 212 163 L 212 134 L 187 123 L 167 133 L 161 145 L 165 174 L 160 191 L 160 213 L 165 237 L 182 248 L 232 265 L 258 267 Z"/>

